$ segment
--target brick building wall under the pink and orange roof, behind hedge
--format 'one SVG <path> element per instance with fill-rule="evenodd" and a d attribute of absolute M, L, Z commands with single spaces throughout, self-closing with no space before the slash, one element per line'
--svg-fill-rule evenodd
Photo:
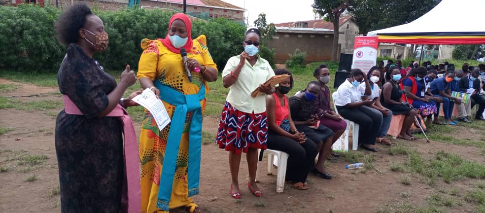
<path fill-rule="evenodd" d="M 160 1 L 153 1 L 153 0 L 140 0 L 141 6 L 150 6 L 150 7 L 160 7 L 160 8 L 170 8 L 173 10 L 183 11 L 183 5 L 177 3 L 171 3 L 160 0 Z M 195 12 L 195 13 L 209 13 L 209 16 L 212 18 L 227 18 L 235 21 L 243 21 L 244 20 L 244 12 L 231 10 L 231 9 L 222 9 L 222 8 L 209 8 L 206 6 L 193 6 L 187 5 L 187 12 Z"/>

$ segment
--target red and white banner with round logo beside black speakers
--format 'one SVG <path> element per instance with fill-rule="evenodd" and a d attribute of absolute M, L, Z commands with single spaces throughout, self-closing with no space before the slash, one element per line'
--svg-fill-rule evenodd
<path fill-rule="evenodd" d="M 360 69 L 367 73 L 376 66 L 379 36 L 355 37 L 352 69 Z"/>

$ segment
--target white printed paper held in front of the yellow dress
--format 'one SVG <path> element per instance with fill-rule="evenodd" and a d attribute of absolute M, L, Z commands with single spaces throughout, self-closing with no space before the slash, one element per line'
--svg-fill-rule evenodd
<path fill-rule="evenodd" d="M 137 95 L 132 101 L 138 103 L 140 106 L 145 107 L 151 112 L 155 122 L 157 122 L 158 129 L 160 131 L 170 123 L 170 116 L 167 113 L 167 109 L 163 106 L 160 99 L 157 98 L 155 93 L 149 88 L 143 90 L 143 92 Z"/>

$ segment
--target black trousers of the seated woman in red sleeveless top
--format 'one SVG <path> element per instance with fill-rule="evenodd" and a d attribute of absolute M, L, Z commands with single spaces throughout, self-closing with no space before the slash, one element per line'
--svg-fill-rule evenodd
<path fill-rule="evenodd" d="M 305 182 L 308 173 L 315 166 L 315 157 L 318 154 L 317 145 L 310 139 L 298 143 L 293 139 L 268 131 L 268 148 L 284 151 L 290 156 L 286 165 L 286 180 L 292 182 Z"/>

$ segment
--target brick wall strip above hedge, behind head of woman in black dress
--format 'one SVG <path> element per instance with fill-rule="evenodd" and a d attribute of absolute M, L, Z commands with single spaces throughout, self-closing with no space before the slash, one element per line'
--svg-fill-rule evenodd
<path fill-rule="evenodd" d="M 85 2 L 89 7 L 102 10 L 122 10 L 128 7 L 128 0 L 57 0 L 59 8 L 68 8 L 76 2 Z M 56 0 L 49 0 L 51 6 L 56 6 Z"/>

